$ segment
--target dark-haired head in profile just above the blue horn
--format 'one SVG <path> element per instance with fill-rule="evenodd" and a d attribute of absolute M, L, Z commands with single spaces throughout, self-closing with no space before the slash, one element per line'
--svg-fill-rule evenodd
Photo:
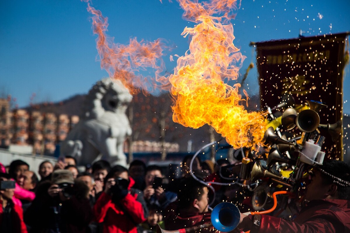
<path fill-rule="evenodd" d="M 208 211 L 208 187 L 193 178 L 184 179 L 179 185 L 177 199 L 179 207 L 188 212 L 207 212 Z"/>

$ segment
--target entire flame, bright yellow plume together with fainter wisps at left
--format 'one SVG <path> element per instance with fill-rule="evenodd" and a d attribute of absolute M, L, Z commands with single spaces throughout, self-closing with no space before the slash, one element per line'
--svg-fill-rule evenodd
<path fill-rule="evenodd" d="M 165 67 L 161 56 L 166 46 L 161 40 L 137 42 L 134 38 L 129 45 L 114 44 L 105 34 L 107 18 L 91 7 L 89 0 L 84 1 L 93 15 L 101 67 L 110 77 L 121 80 L 132 93 L 139 88 L 169 90 L 171 83 L 174 122 L 195 129 L 209 124 L 235 148 L 261 143 L 264 117 L 259 112 L 247 112 L 240 104 L 245 100 L 238 92 L 239 83 L 233 87 L 224 83 L 225 79 L 237 79 L 245 58 L 233 44 L 235 37 L 229 23 L 235 16 L 232 12 L 237 9 L 237 0 L 178 0 L 185 11 L 184 18 L 198 24 L 182 32 L 184 37 L 191 36 L 190 48 L 177 59 L 174 74 L 168 78 L 162 73 Z M 145 67 L 155 70 L 153 78 L 135 73 Z"/>

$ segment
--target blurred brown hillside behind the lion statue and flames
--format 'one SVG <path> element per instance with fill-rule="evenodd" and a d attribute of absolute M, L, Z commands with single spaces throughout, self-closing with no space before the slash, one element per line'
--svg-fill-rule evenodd
<path fill-rule="evenodd" d="M 81 115 L 81 109 L 85 102 L 85 95 L 75 95 L 69 99 L 57 103 L 41 103 L 26 107 L 28 111 L 37 110 L 41 112 L 53 112 L 55 114 Z M 192 150 L 196 151 L 210 142 L 209 126 L 204 125 L 199 129 L 184 127 L 174 123 L 172 120 L 171 98 L 168 94 L 160 96 L 142 93 L 133 97 L 127 114 L 132 117 L 133 140 L 159 141 L 161 128 L 159 123 L 164 121 L 165 139 L 167 142 L 178 143 L 180 151 L 187 151 L 188 141 L 192 141 Z M 250 108 L 258 104 L 258 99 L 251 99 Z M 162 117 L 163 116 L 163 117 Z M 216 140 L 221 136 L 215 133 Z"/>

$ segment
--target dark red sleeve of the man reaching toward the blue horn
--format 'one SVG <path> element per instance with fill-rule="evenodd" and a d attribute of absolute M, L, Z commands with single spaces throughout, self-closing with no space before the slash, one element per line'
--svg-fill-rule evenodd
<path fill-rule="evenodd" d="M 258 232 L 313 232 L 331 233 L 341 232 L 338 227 L 342 223 L 329 210 L 322 210 L 322 213 L 315 213 L 309 220 L 302 224 L 287 221 L 268 215 L 261 215 L 260 229 Z M 254 231 L 255 232 L 255 231 Z M 251 231 L 253 233 L 253 231 Z"/>

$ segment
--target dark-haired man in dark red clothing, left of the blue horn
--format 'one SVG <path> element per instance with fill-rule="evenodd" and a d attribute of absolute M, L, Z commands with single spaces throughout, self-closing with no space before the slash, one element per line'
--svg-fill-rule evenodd
<path fill-rule="evenodd" d="M 182 228 L 210 223 L 208 211 L 208 187 L 192 177 L 183 179 L 179 184 L 177 201 L 170 204 L 164 215 L 165 230 Z M 212 233 L 211 229 L 202 229 L 202 233 Z"/>

